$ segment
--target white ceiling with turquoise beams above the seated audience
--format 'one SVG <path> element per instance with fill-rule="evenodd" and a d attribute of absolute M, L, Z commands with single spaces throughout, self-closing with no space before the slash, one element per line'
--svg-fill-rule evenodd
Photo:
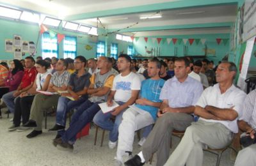
<path fill-rule="evenodd" d="M 239 0 L 0 0 L 0 4 L 90 26 L 97 26 L 98 17 L 99 27 L 134 36 L 230 33 L 237 3 Z M 159 13 L 162 18 L 140 19 Z"/>

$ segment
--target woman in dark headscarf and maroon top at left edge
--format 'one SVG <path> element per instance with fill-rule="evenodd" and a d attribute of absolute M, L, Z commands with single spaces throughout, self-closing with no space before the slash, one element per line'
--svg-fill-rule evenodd
<path fill-rule="evenodd" d="M 8 93 L 9 91 L 15 91 L 17 89 L 24 74 L 24 68 L 19 60 L 14 59 L 10 64 L 11 66 L 8 76 L 3 82 L 0 82 L 0 99 L 2 98 L 3 94 Z M 0 107 L 0 118 L 1 117 Z"/>

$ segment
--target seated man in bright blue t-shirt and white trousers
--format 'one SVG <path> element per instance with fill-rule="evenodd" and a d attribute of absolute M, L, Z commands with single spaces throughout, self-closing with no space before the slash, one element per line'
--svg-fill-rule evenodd
<path fill-rule="evenodd" d="M 123 156 L 132 153 L 134 132 L 155 123 L 157 110 L 161 105 L 159 94 L 164 86 L 164 80 L 159 77 L 161 63 L 152 59 L 148 63 L 148 76 L 143 80 L 140 98 L 124 112 L 122 123 L 119 127 L 118 147 L 116 151 L 116 163 L 122 165 Z"/>

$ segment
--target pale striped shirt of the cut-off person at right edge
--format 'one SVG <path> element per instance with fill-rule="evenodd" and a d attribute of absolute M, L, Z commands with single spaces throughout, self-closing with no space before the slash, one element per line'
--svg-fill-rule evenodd
<path fill-rule="evenodd" d="M 256 128 L 256 89 L 247 94 L 243 102 L 243 115 L 239 120 L 246 121 L 252 128 Z"/>

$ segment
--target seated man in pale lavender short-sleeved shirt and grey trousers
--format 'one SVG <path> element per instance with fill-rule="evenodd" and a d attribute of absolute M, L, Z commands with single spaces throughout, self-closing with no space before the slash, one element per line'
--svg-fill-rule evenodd
<path fill-rule="evenodd" d="M 172 130 L 184 131 L 194 121 L 194 105 L 203 91 L 202 84 L 188 76 L 189 61 L 186 57 L 175 59 L 174 66 L 175 76 L 166 80 L 161 90 L 159 99 L 163 103 L 157 112 L 159 118 L 139 156 L 134 156 L 125 165 L 133 165 L 137 161 L 147 162 L 156 152 L 157 165 L 164 165 L 170 153 Z"/>

